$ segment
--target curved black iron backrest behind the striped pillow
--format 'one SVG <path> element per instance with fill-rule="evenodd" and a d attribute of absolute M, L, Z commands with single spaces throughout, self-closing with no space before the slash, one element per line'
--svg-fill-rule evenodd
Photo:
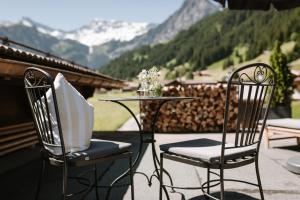
<path fill-rule="evenodd" d="M 38 68 L 29 67 L 24 73 L 25 90 L 40 146 L 44 153 L 53 157 L 57 155 L 54 155 L 50 149 L 59 148 L 64 157 L 65 147 L 53 81 L 50 74 Z M 55 137 L 54 129 L 59 133 L 59 138 Z"/>

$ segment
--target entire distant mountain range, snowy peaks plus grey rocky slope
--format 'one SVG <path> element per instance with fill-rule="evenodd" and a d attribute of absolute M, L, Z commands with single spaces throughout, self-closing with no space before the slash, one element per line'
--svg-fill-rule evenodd
<path fill-rule="evenodd" d="M 81 65 L 100 68 L 112 58 L 133 48 L 166 42 L 179 31 L 218 9 L 210 0 L 185 0 L 173 15 L 158 26 L 96 19 L 71 31 L 51 28 L 30 18 L 22 18 L 18 22 L 0 23 L 0 35 Z M 112 26 L 113 30 L 105 32 L 109 29 L 107 27 Z"/>

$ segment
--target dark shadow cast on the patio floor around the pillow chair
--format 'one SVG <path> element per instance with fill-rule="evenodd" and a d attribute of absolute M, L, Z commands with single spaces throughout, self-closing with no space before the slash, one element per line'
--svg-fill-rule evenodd
<path fill-rule="evenodd" d="M 137 134 L 107 134 L 107 133 L 95 133 L 94 136 L 96 138 L 107 139 L 107 140 L 116 140 L 122 142 L 130 142 L 133 144 L 132 151 L 134 152 L 134 157 L 137 155 L 139 148 L 139 136 Z M 147 146 L 145 145 L 142 149 L 141 157 L 143 157 Z M 30 152 L 36 152 L 38 155 L 38 148 L 32 149 Z M 19 152 L 20 153 L 20 152 Z M 11 162 L 15 156 L 16 159 L 26 159 L 26 155 L 22 155 L 23 158 L 18 157 L 18 152 L 15 152 L 12 155 L 8 155 L 7 159 L 2 158 L 1 162 L 5 162 L 6 160 Z M 16 160 L 15 159 L 15 160 Z M 1 164 L 1 163 L 0 163 Z M 104 172 L 107 167 L 110 166 L 111 163 L 99 163 L 98 164 L 98 172 L 101 174 Z M 139 162 L 136 166 L 139 165 Z M 37 156 L 35 159 L 32 159 L 30 162 L 27 162 L 21 166 L 16 167 L 15 169 L 11 169 L 6 171 L 5 173 L 0 174 L 0 199 L 3 200 L 32 200 L 35 196 L 36 185 L 38 180 L 38 175 L 41 167 L 41 159 Z M 92 166 L 91 166 L 92 167 Z M 75 176 L 82 172 L 89 171 L 91 167 L 82 167 L 82 168 L 70 168 L 69 175 Z M 118 177 L 121 173 L 123 173 L 128 168 L 128 160 L 118 160 L 116 161 L 112 167 L 109 169 L 109 172 L 104 175 L 103 181 L 101 181 L 101 185 L 109 184 L 112 180 Z M 93 174 L 87 173 L 85 175 L 92 179 Z M 120 184 L 128 183 L 129 178 L 124 178 Z M 76 181 L 69 181 L 69 189 L 70 192 L 79 191 L 82 188 L 82 185 L 79 185 Z M 118 200 L 123 199 L 128 186 L 122 188 L 115 188 L 111 192 L 110 199 Z M 46 174 L 43 179 L 42 189 L 40 193 L 40 198 L 43 200 L 55 200 L 60 199 L 60 194 L 62 190 L 62 168 L 54 167 L 51 165 L 46 165 Z M 100 199 L 104 199 L 106 195 L 106 189 L 99 189 Z M 80 196 L 78 198 L 72 199 L 81 199 Z M 84 199 L 93 200 L 96 199 L 95 191 L 91 191 L 88 196 Z"/>

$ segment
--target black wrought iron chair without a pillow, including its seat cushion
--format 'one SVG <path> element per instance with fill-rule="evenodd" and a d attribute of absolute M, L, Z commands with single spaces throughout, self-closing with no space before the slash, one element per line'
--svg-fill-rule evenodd
<path fill-rule="evenodd" d="M 206 168 L 207 181 L 200 187 L 206 198 L 217 199 L 210 194 L 210 188 L 220 185 L 220 199 L 224 200 L 224 181 L 237 181 L 257 186 L 261 199 L 264 199 L 258 156 L 275 82 L 276 75 L 266 64 L 255 63 L 239 68 L 233 72 L 227 83 L 222 141 L 202 138 L 160 146 L 162 151 L 160 154 L 160 199 L 162 199 L 164 159 Z M 232 95 L 236 97 L 236 101 L 230 100 Z M 238 109 L 237 114 L 232 114 L 232 109 Z M 230 132 L 234 133 L 231 143 L 228 142 Z M 225 169 L 242 167 L 251 163 L 255 163 L 257 184 L 224 178 Z M 220 170 L 220 173 L 215 173 L 211 169 Z M 217 175 L 218 178 L 211 180 L 212 174 Z"/>

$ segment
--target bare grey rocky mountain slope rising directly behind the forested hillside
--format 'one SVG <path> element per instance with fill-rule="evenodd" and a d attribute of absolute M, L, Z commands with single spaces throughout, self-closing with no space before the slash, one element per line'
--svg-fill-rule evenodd
<path fill-rule="evenodd" d="M 155 45 L 168 42 L 180 31 L 186 30 L 205 16 L 211 15 L 221 9 L 220 6 L 210 0 L 186 0 L 183 5 L 163 23 L 150 29 L 147 33 L 135 37 L 131 41 L 121 43 L 120 47 L 108 53 L 109 57 L 116 58 L 126 51 L 143 45 Z"/>

